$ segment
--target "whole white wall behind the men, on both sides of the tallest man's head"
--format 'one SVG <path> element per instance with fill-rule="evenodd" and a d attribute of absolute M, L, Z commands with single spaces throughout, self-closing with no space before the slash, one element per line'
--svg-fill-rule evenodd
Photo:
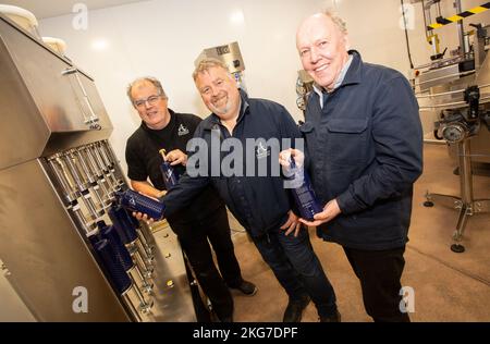
<path fill-rule="evenodd" d="M 480 2 L 463 0 L 463 7 Z M 40 33 L 64 39 L 66 54 L 96 79 L 114 125 L 111 143 L 125 169 L 125 140 L 139 125 L 125 86 L 135 77 L 154 75 L 161 79 L 171 108 L 206 116 L 191 77 L 194 60 L 204 48 L 238 41 L 250 96 L 278 101 L 301 119 L 295 30 L 303 19 L 327 7 L 346 20 L 351 46 L 365 61 L 408 75 L 399 0 L 152 0 L 90 11 L 87 30 L 73 28 L 74 14 L 42 20 Z M 430 46 L 425 41 L 421 7 L 417 3 L 414 9 L 415 29 L 409 36 L 417 65 L 428 62 Z M 236 13 L 243 13 L 244 22 L 236 20 Z M 445 30 L 450 38 L 444 39 L 456 44 L 455 26 Z"/>

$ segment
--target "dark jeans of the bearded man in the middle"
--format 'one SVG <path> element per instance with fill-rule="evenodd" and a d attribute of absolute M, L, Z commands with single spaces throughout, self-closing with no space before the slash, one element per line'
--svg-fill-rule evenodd
<path fill-rule="evenodd" d="M 313 250 L 306 228 L 297 237 L 285 236 L 284 231 L 278 229 L 253 241 L 291 299 L 307 294 L 320 316 L 335 314 L 335 293 Z"/>

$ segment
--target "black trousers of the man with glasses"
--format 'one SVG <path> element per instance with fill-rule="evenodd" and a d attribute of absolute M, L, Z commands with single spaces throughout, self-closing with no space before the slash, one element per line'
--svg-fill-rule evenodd
<path fill-rule="evenodd" d="M 226 209 L 223 206 L 205 220 L 186 225 L 176 224 L 172 230 L 177 234 L 197 281 L 218 317 L 230 317 L 233 314 L 233 298 L 228 286 L 237 286 L 243 280 L 231 239 Z M 216 253 L 219 271 L 209 244 Z"/>

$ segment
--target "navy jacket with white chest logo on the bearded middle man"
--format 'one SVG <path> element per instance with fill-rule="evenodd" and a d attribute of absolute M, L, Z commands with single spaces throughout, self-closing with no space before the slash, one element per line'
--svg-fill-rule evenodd
<path fill-rule="evenodd" d="M 279 140 L 299 138 L 301 136 L 298 126 L 284 107 L 269 100 L 248 99 L 242 93 L 241 114 L 232 135 L 220 123 L 216 114 L 208 116 L 197 127 L 194 137 L 201 138 L 207 144 L 207 151 L 204 155 L 207 159 L 199 161 L 199 168 L 205 164 L 203 169 L 207 172 L 207 176 L 191 177 L 188 174 L 182 176 L 179 185 L 162 198 L 166 216 L 188 205 L 199 189 L 211 183 L 224 199 L 230 211 L 250 235 L 260 236 L 270 230 L 277 230 L 286 221 L 287 212 L 292 209 L 293 204 L 289 191 L 284 189 L 283 179 L 280 173 L 277 173 L 279 171 L 279 152 L 291 146 L 294 147 L 294 142 L 291 145 L 277 147 L 268 146 L 266 142 L 274 138 Z M 220 151 L 223 149 L 220 149 L 219 146 L 211 146 L 211 140 L 223 143 L 230 137 L 242 143 L 243 159 L 230 164 L 236 168 L 236 173 L 233 175 L 223 173 L 223 170 L 218 171 L 217 174 L 220 163 L 229 165 L 230 161 L 226 160 L 229 152 Z M 247 138 L 260 138 L 262 144 L 246 149 Z M 228 142 L 230 143 L 230 140 Z M 272 140 L 269 142 L 269 144 L 271 143 Z M 187 148 L 189 147 L 187 146 Z M 194 153 L 199 153 L 198 149 L 194 150 Z M 193 158 L 195 156 L 191 151 L 187 171 Z M 211 163 L 212 159 L 215 159 L 215 163 Z M 264 165 L 267 167 L 261 176 L 258 175 L 260 163 L 265 163 Z M 272 165 L 275 165 L 277 169 L 272 170 Z M 254 172 L 253 176 L 246 175 L 247 169 Z"/>

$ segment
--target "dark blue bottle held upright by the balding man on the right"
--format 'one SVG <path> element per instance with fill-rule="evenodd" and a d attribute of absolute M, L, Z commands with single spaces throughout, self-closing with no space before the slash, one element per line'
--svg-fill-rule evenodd
<path fill-rule="evenodd" d="M 294 201 L 299 210 L 303 219 L 315 221 L 314 216 L 323 211 L 320 202 L 315 195 L 308 174 L 304 168 L 298 168 L 293 157 L 290 159 L 290 177 L 292 183 L 291 192 L 293 193 Z"/>

